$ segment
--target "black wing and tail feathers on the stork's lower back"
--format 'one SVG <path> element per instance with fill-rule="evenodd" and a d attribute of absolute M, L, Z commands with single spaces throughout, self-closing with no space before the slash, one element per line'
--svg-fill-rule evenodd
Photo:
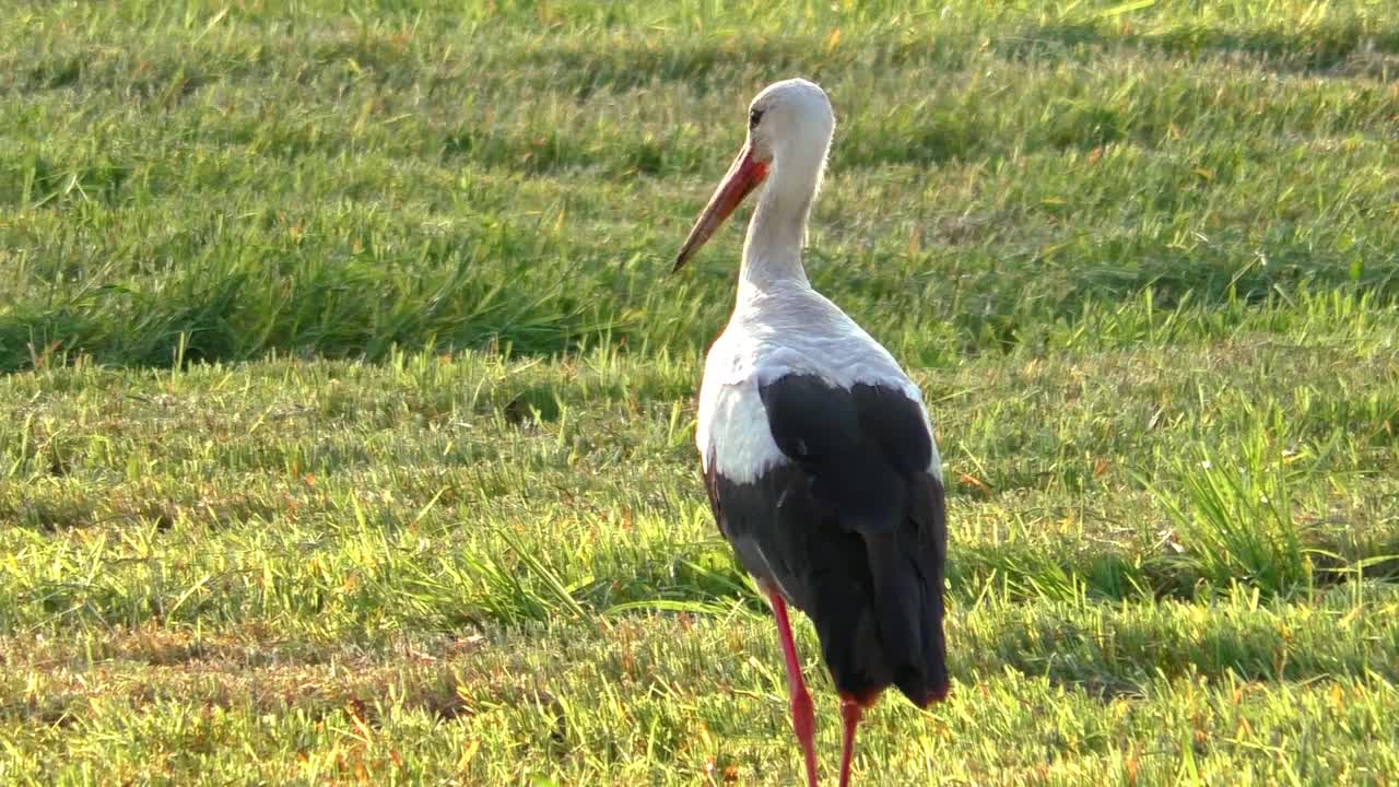
<path fill-rule="evenodd" d="M 943 487 L 919 405 L 880 385 L 788 375 L 760 389 L 789 459 L 748 483 L 709 462 L 720 529 L 760 580 L 816 623 L 837 688 L 894 683 L 918 704 L 947 689 Z"/>

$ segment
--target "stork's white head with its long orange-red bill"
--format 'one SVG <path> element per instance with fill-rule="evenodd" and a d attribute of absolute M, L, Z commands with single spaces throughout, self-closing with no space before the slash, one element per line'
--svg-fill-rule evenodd
<path fill-rule="evenodd" d="M 809 204 L 821 186 L 834 132 L 835 112 L 816 83 L 795 78 L 762 88 L 748 105 L 748 139 L 680 246 L 674 269 L 690 262 L 764 181 L 771 181 L 767 188 L 776 192 L 776 199 Z"/>

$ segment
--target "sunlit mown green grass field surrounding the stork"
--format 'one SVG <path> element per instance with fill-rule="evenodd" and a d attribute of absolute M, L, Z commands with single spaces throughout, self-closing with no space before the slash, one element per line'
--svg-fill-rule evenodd
<path fill-rule="evenodd" d="M 795 784 L 667 274 L 795 74 L 950 479 L 858 781 L 1395 784 L 1381 0 L 0 0 L 0 781 Z"/>

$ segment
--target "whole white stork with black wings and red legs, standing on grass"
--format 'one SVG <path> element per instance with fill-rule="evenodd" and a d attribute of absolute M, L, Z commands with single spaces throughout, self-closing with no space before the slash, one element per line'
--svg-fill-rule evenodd
<path fill-rule="evenodd" d="M 835 115 L 806 80 L 767 87 L 748 140 L 676 258 L 679 270 L 750 192 L 739 297 L 709 349 L 695 443 L 715 520 L 772 604 L 792 727 L 816 781 L 811 696 L 786 604 L 816 625 L 841 695 L 841 786 L 855 728 L 887 686 L 947 695 L 942 459 L 918 386 L 802 267 Z"/>

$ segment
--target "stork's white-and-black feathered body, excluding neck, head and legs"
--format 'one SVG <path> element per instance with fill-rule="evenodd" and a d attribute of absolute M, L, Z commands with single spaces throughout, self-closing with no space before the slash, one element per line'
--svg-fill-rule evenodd
<path fill-rule="evenodd" d="M 935 618 L 916 623 L 940 602 L 925 585 L 942 578 L 942 468 L 918 386 L 810 286 L 744 295 L 700 394 L 715 520 L 744 569 L 816 623 L 837 689 L 867 702 L 901 683 L 926 704 L 946 681 Z"/>

